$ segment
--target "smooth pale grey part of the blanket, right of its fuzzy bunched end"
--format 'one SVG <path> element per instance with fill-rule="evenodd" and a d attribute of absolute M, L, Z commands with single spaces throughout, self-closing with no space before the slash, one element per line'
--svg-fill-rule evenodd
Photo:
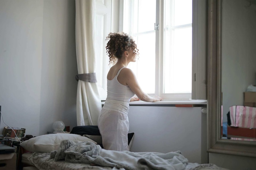
<path fill-rule="evenodd" d="M 125 169 L 166 169 L 166 170 L 183 170 L 188 162 L 180 151 L 169 153 L 157 152 L 129 152 L 101 150 L 96 158 L 108 160 L 106 166 Z M 99 163 L 101 159 L 99 159 Z M 97 160 L 94 163 L 98 164 Z M 111 164 L 110 164 L 111 163 Z"/>

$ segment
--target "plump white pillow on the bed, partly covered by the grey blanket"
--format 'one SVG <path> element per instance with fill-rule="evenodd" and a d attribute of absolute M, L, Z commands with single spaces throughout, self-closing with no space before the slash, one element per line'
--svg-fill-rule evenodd
<path fill-rule="evenodd" d="M 48 134 L 41 135 L 37 137 L 32 137 L 29 140 L 26 140 L 20 143 L 20 146 L 30 152 L 51 152 L 53 150 L 58 150 L 59 145 L 62 140 L 70 140 L 70 141 L 91 141 L 97 144 L 95 141 L 89 139 L 88 137 L 69 134 L 69 133 L 57 133 L 57 134 Z"/>

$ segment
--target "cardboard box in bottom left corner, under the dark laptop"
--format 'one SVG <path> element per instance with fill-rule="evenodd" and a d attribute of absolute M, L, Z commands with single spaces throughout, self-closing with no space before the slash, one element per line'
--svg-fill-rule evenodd
<path fill-rule="evenodd" d="M 16 169 L 16 153 L 0 154 L 0 170 Z"/>

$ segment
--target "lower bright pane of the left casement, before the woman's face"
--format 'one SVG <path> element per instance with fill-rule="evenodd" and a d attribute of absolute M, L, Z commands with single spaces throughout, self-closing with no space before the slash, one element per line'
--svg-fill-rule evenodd
<path fill-rule="evenodd" d="M 145 93 L 155 93 L 155 32 L 133 37 L 139 49 L 139 59 L 130 62 L 128 68 L 137 75 Z"/>

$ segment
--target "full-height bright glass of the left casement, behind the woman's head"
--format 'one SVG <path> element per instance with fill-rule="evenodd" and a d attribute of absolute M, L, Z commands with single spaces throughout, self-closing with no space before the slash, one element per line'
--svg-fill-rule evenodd
<path fill-rule="evenodd" d="M 156 0 L 125 0 L 124 10 L 123 30 L 132 36 L 139 49 L 137 61 L 129 63 L 128 68 L 135 73 L 142 90 L 154 94 Z"/>

